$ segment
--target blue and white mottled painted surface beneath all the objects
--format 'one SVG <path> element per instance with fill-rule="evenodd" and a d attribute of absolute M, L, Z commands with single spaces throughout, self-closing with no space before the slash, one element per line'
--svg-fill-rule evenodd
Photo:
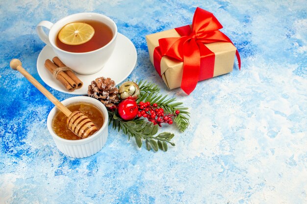
<path fill-rule="evenodd" d="M 224 25 L 242 70 L 200 82 L 189 96 L 169 91 L 149 62 L 145 35 L 192 22 L 195 8 Z M 106 146 L 85 159 L 61 154 L 48 133 L 53 107 L 18 72 L 39 78 L 42 20 L 77 12 L 110 16 L 136 46 L 128 79 L 156 82 L 190 108 L 191 125 L 167 153 L 137 148 L 109 127 Z M 307 203 L 306 0 L 1 0 L 0 204 Z"/>

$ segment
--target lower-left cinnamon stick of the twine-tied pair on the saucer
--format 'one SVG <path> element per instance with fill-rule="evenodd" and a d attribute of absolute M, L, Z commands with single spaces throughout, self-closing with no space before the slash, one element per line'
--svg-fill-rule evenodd
<path fill-rule="evenodd" d="M 55 64 L 51 62 L 51 60 L 47 59 L 45 61 L 45 67 L 53 74 L 54 69 L 58 68 Z M 67 91 L 74 91 L 77 88 L 76 83 L 63 71 L 60 71 L 56 79 L 61 82 L 61 84 L 65 87 Z"/>

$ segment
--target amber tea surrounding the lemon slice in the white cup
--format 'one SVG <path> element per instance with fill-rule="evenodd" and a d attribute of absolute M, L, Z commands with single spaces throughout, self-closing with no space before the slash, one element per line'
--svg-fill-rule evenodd
<path fill-rule="evenodd" d="M 90 52 L 108 44 L 113 38 L 113 32 L 111 28 L 105 23 L 94 20 L 84 20 L 78 22 L 87 23 L 91 25 L 95 30 L 94 36 L 86 43 L 80 45 L 67 45 L 59 40 L 57 34 L 55 39 L 55 45 L 58 48 L 68 52 Z"/>

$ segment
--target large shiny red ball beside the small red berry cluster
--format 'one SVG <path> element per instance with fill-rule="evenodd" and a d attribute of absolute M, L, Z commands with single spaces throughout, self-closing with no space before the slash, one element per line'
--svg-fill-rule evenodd
<path fill-rule="evenodd" d="M 118 105 L 118 113 L 124 120 L 132 120 L 138 114 L 138 106 L 135 101 L 126 99 Z"/>

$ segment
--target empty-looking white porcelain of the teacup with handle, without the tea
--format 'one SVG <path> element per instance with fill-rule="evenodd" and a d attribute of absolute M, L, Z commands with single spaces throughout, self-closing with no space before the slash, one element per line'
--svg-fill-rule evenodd
<path fill-rule="evenodd" d="M 100 21 L 109 26 L 113 32 L 112 40 L 99 49 L 89 52 L 68 52 L 58 48 L 55 45 L 55 40 L 60 29 L 67 23 L 78 22 L 82 20 Z M 43 27 L 50 29 L 49 35 L 44 32 Z M 93 74 L 101 70 L 107 60 L 110 58 L 117 37 L 117 26 L 109 17 L 97 13 L 77 13 L 67 16 L 56 23 L 42 21 L 36 26 L 36 32 L 40 39 L 50 45 L 57 57 L 69 68 L 76 71 L 78 74 Z"/>

